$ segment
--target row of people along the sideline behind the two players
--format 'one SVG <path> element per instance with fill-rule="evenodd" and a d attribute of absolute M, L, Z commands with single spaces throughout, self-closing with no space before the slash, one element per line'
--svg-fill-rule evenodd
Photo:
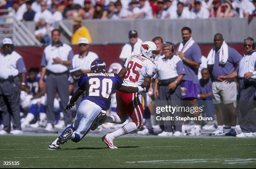
<path fill-rule="evenodd" d="M 247 37 L 243 41 L 245 55 L 242 57 L 226 44 L 223 35 L 217 33 L 214 36 L 214 47 L 205 57 L 192 38 L 192 30 L 183 27 L 181 32 L 183 41 L 177 49 L 172 42 L 164 42 L 162 37 L 152 39 L 159 49 L 159 60 L 156 62 L 158 68 L 152 87 L 142 98 L 145 128 L 138 131 L 138 134 L 154 134 L 151 124 L 154 122 L 151 119 L 154 114 L 153 100 L 169 100 L 175 105 L 181 105 L 183 100 L 188 106 L 206 105 L 203 116 L 212 117 L 214 120 L 206 124 L 195 120 L 189 125 L 187 122 L 164 122 L 160 126 L 162 132 L 159 136 L 198 136 L 201 134 L 201 125 L 205 125 L 202 127 L 205 130 L 215 130 L 212 135 L 225 135 L 225 112 L 228 113 L 227 124 L 230 125 L 230 131 L 226 135 L 255 136 L 255 117 L 246 116 L 254 111 L 253 103 L 250 101 L 255 99 L 256 93 L 254 40 Z M 41 71 L 38 67 L 32 67 L 28 70 L 27 77 L 26 65 L 22 56 L 13 51 L 12 40 L 3 40 L 0 61 L 6 64 L 0 67 L 0 112 L 3 123 L 0 134 L 22 134 L 22 129 L 26 127 L 44 127 L 46 131 L 53 132 L 54 128 L 63 129 L 72 124 L 76 107 L 69 111 L 65 110 L 65 106 L 78 88 L 79 77 L 90 73 L 90 65 L 98 55 L 90 52 L 90 42 L 85 37 L 79 38 L 80 52 L 74 55 L 72 48 L 60 41 L 60 33 L 56 29 L 51 31 L 52 44 L 46 46 L 42 53 Z M 141 52 L 143 40 L 139 38 L 138 32 L 129 31 L 128 38 L 129 41 L 123 46 L 119 57 L 123 63 L 129 56 Z M 10 60 L 10 57 L 14 59 Z M 244 64 L 245 62 L 248 63 Z M 121 68 L 122 65 L 119 63 L 113 63 L 108 72 L 118 73 Z M 240 101 L 246 101 L 240 107 L 234 103 L 239 100 L 238 95 Z M 110 115 L 116 111 L 115 94 L 112 94 L 111 98 L 108 110 Z M 82 97 L 76 102 L 77 107 L 81 100 Z M 221 106 L 221 101 L 225 105 L 225 110 Z M 244 108 L 245 104 L 247 109 Z M 243 115 L 239 120 L 238 112 L 242 112 Z M 193 114 L 194 117 L 199 115 L 199 112 Z M 241 133 L 238 133 L 238 121 Z M 113 128 L 119 127 L 119 124 L 107 123 L 101 127 Z"/>

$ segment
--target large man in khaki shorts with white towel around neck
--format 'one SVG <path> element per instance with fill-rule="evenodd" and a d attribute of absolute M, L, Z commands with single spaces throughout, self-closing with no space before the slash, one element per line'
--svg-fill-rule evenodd
<path fill-rule="evenodd" d="M 236 67 L 238 66 L 241 55 L 231 47 L 224 47 L 225 41 L 223 36 L 220 33 L 215 34 L 214 36 L 214 47 L 212 48 L 212 55 L 208 57 L 213 57 L 214 62 L 209 62 L 207 60 L 207 67 L 212 76 L 212 94 L 213 94 L 213 103 L 216 107 L 216 116 L 218 121 L 218 128 L 215 132 L 211 133 L 211 135 L 221 136 L 236 136 L 236 120 L 237 120 L 237 111 L 234 107 L 237 97 L 237 89 L 236 89 L 236 80 L 234 77 L 230 76 L 236 74 Z M 228 50 L 226 53 L 228 56 L 225 56 L 225 50 Z M 223 62 L 220 59 L 220 52 L 222 53 L 222 57 L 227 57 L 227 59 Z M 214 54 L 215 53 L 215 54 Z M 209 58 L 208 58 L 209 59 Z M 231 78 L 230 78 L 231 77 Z M 221 101 L 225 104 L 225 109 L 230 117 L 230 125 L 231 130 L 227 134 L 223 131 L 223 107 L 221 107 Z"/>

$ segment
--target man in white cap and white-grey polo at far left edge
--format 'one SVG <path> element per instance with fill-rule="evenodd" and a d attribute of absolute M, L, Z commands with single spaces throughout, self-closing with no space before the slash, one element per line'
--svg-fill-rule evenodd
<path fill-rule="evenodd" d="M 3 130 L 0 134 L 22 134 L 20 127 L 20 89 L 26 87 L 26 67 L 23 58 L 13 51 L 10 38 L 3 39 L 0 53 L 0 107 L 2 109 Z M 19 76 L 18 76 L 19 75 Z M 13 130 L 10 131 L 10 122 Z"/>

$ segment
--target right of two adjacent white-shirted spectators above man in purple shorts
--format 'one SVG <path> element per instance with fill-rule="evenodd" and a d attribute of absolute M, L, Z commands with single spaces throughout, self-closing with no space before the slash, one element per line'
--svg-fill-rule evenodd
<path fill-rule="evenodd" d="M 195 1 L 195 9 L 191 12 L 192 19 L 208 19 L 210 16 L 209 11 L 202 7 L 201 0 Z"/>

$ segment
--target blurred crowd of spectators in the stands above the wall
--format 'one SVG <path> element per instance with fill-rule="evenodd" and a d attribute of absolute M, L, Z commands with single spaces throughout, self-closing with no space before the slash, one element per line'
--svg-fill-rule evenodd
<path fill-rule="evenodd" d="M 0 9 L 13 8 L 9 17 L 33 21 L 36 38 L 46 45 L 51 44 L 54 22 L 65 19 L 77 25 L 87 19 L 243 18 L 255 15 L 255 7 L 256 0 L 1 0 L 0 3 Z M 5 22 L 10 21 L 7 18 Z M 91 42 L 86 27 L 82 31 Z"/>

